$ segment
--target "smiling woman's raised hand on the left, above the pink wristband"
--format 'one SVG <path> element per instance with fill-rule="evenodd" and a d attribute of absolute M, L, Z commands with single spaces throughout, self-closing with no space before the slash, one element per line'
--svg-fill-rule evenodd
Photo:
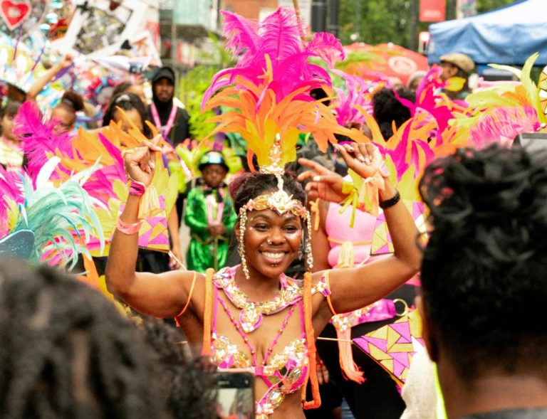
<path fill-rule="evenodd" d="M 150 186 L 155 172 L 155 153 L 162 149 L 157 146 L 162 138 L 158 134 L 152 141 L 143 141 L 140 147 L 127 149 L 123 152 L 125 172 L 134 181 Z"/>

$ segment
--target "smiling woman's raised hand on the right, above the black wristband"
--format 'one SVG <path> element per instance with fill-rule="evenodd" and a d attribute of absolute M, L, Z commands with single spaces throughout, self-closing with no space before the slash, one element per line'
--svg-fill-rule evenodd
<path fill-rule="evenodd" d="M 381 172 L 382 176 L 387 176 L 387 174 L 382 173 L 385 168 L 380 149 L 374 144 L 370 142 L 359 144 L 353 142 L 351 144 L 337 144 L 335 148 L 340 152 L 348 168 L 355 171 L 359 176 L 368 178 L 377 174 L 378 171 Z"/>

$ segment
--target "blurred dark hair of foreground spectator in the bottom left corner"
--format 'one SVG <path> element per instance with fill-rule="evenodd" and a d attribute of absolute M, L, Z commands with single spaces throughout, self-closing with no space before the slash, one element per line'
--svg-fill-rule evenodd
<path fill-rule="evenodd" d="M 103 295 L 0 261 L 0 417 L 165 417 L 155 354 Z"/>

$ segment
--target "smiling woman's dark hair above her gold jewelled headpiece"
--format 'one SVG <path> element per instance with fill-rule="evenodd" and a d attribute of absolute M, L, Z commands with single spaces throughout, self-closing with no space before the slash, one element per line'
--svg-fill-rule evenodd
<path fill-rule="evenodd" d="M 277 178 L 273 174 L 253 174 L 247 171 L 232 179 L 229 190 L 234 199 L 234 209 L 239 214 L 239 209 L 249 199 L 256 198 L 266 192 L 276 191 Z M 283 190 L 306 205 L 306 192 L 296 180 L 296 175 L 291 171 L 286 171 L 283 174 Z"/>

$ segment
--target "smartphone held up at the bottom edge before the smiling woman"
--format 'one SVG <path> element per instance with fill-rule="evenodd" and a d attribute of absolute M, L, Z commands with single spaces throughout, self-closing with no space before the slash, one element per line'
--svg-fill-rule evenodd
<path fill-rule="evenodd" d="M 223 369 L 217 382 L 218 419 L 254 419 L 254 376 L 249 370 Z"/>

